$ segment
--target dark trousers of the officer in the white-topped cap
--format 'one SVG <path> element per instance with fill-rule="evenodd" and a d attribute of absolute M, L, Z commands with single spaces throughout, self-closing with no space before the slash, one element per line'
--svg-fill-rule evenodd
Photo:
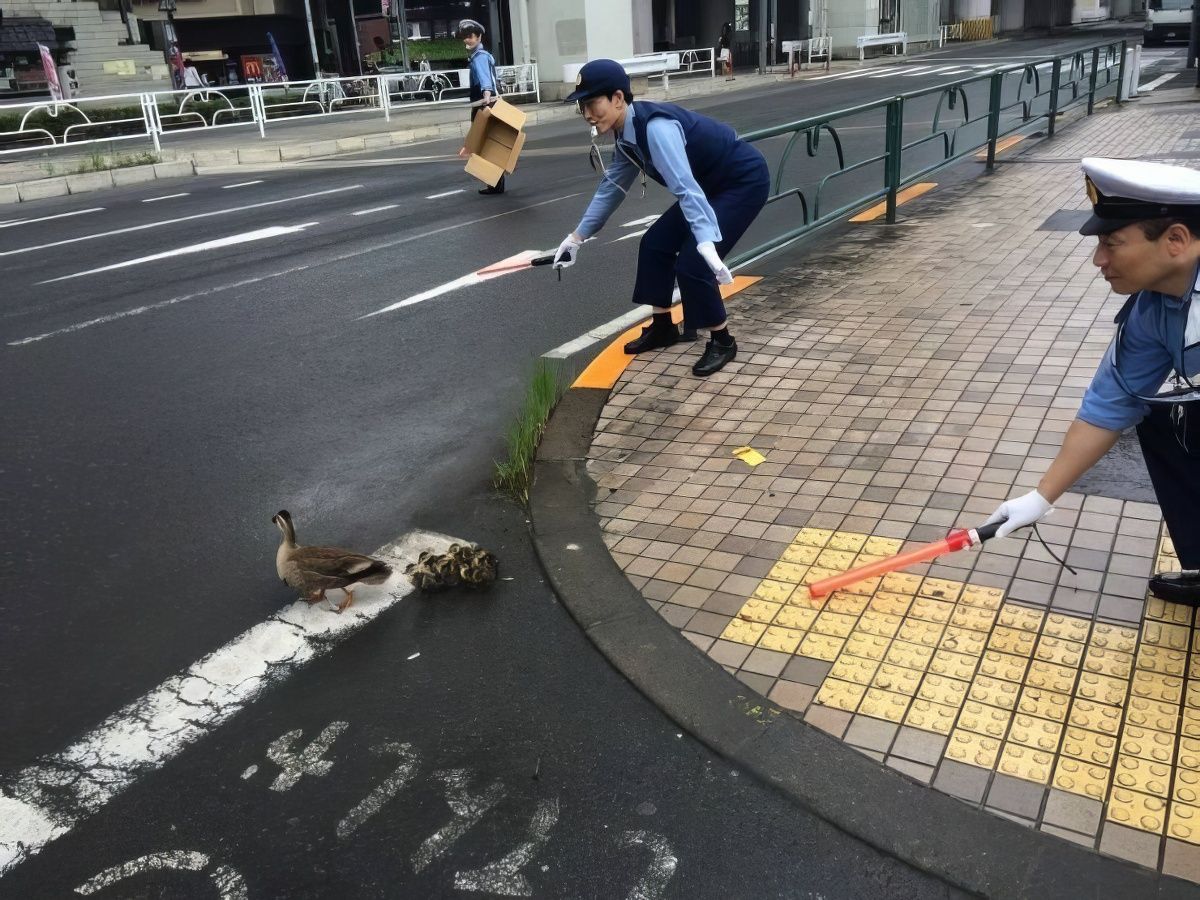
<path fill-rule="evenodd" d="M 1180 446 L 1165 406 L 1151 407 L 1138 440 L 1180 565 L 1200 569 L 1200 457 Z"/>

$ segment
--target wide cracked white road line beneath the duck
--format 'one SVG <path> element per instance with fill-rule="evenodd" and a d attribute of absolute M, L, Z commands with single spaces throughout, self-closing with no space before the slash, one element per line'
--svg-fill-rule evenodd
<path fill-rule="evenodd" d="M 66 750 L 6 779 L 0 876 L 368 625 L 412 592 L 404 565 L 422 550 L 444 552 L 450 541 L 409 532 L 374 552 L 392 565 L 392 575 L 379 587 L 360 588 L 346 613 L 298 600 L 108 716 Z"/>

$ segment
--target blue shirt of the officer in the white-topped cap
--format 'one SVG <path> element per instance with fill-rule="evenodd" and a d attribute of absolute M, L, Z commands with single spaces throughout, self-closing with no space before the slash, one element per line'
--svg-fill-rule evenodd
<path fill-rule="evenodd" d="M 1114 341 L 1084 395 L 1080 419 L 1098 428 L 1123 431 L 1150 413 L 1150 406 L 1134 395 L 1154 396 L 1171 372 L 1195 380 L 1200 373 L 1200 270 L 1193 286 L 1187 299 L 1142 290 L 1122 311 L 1127 318 L 1120 332 L 1120 359 Z"/>

